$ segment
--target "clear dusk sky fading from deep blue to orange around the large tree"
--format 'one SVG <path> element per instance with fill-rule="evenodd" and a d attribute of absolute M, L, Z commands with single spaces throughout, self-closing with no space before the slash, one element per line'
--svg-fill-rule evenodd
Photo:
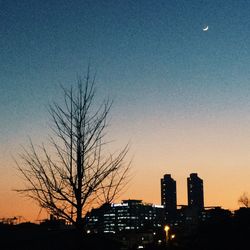
<path fill-rule="evenodd" d="M 0 218 L 41 219 L 13 191 L 13 158 L 29 137 L 46 142 L 48 104 L 88 65 L 114 100 L 113 147 L 131 147 L 119 199 L 160 204 L 168 173 L 187 204 L 195 172 L 206 206 L 237 209 L 250 193 L 249 12 L 243 0 L 0 0 Z"/>

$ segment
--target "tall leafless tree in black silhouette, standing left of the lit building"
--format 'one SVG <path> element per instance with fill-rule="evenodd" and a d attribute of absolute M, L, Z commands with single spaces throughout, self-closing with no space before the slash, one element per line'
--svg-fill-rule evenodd
<path fill-rule="evenodd" d="M 87 210 L 111 202 L 126 184 L 128 146 L 107 154 L 104 137 L 112 102 L 95 108 L 95 79 L 89 71 L 76 89 L 63 88 L 63 93 L 63 105 L 49 106 L 53 151 L 30 140 L 17 163 L 26 185 L 17 191 L 82 229 Z"/>

